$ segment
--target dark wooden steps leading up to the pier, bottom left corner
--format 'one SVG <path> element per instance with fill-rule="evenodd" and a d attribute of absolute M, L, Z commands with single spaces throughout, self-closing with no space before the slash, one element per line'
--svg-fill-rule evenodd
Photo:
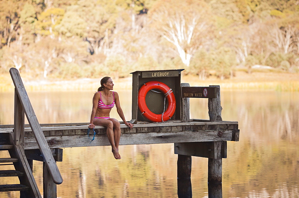
<path fill-rule="evenodd" d="M 0 134 L 0 152 L 8 151 L 10 158 L 0 158 L 0 165 L 13 165 L 15 170 L 2 170 L 0 177 L 19 177 L 19 184 L 1 184 L 0 192 L 20 191 L 20 197 L 41 197 L 32 170 L 24 153 L 24 148 L 15 145 L 12 133 Z"/>

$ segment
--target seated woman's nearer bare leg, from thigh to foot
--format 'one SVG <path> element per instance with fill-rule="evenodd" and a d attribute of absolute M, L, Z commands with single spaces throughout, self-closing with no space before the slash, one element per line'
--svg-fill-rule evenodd
<path fill-rule="evenodd" d="M 120 154 L 118 153 L 118 145 L 119 145 L 119 139 L 120 139 L 120 128 L 119 128 L 119 137 L 117 136 L 118 140 L 115 141 L 115 135 L 114 135 L 114 131 L 113 131 L 113 122 L 111 120 L 102 119 L 102 118 L 94 119 L 94 125 L 107 127 L 106 134 L 107 134 L 108 140 L 112 147 L 112 153 L 113 153 L 115 159 L 121 159 Z M 116 144 L 116 142 L 117 142 L 117 144 Z M 116 147 L 116 145 L 117 145 L 117 147 Z"/>

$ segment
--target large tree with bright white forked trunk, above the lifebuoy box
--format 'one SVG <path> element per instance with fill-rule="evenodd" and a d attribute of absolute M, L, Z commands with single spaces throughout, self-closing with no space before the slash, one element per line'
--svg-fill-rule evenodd
<path fill-rule="evenodd" d="M 187 67 L 197 49 L 212 42 L 212 23 L 205 1 L 158 1 L 151 12 L 152 27 L 157 29 Z"/>

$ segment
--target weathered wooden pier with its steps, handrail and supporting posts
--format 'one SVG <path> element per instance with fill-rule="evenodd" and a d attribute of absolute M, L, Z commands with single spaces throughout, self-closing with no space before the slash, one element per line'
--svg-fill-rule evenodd
<path fill-rule="evenodd" d="M 20 197 L 41 197 L 32 175 L 33 160 L 38 160 L 43 161 L 44 197 L 57 197 L 56 185 L 62 183 L 56 165 L 57 161 L 62 161 L 61 148 L 110 145 L 106 128 L 96 126 L 94 135 L 93 131 L 88 134 L 89 123 L 39 124 L 19 72 L 11 68 L 10 74 L 16 87 L 15 120 L 14 125 L 0 125 L 0 150 L 8 150 L 11 158 L 0 159 L 0 163 L 13 162 L 18 174 L 7 175 L 5 171 L 0 171 L 0 176 L 19 176 L 20 184 L 13 187 L 0 185 L 0 191 L 21 191 Z M 189 86 L 180 85 L 180 90 Z M 175 117 L 180 119 L 157 123 L 136 121 L 137 109 L 133 108 L 132 117 L 135 119 L 130 122 L 134 127 L 130 129 L 120 122 L 120 145 L 174 143 L 175 154 L 178 154 L 178 186 L 184 186 L 178 188 L 179 197 L 192 197 L 191 156 L 209 158 L 209 195 L 211 192 L 211 197 L 221 197 L 222 158 L 227 157 L 226 141 L 239 141 L 238 122 L 222 121 L 220 87 L 211 87 L 215 93 L 208 99 L 210 120 L 190 119 L 189 98 L 178 97 L 179 110 Z M 133 99 L 135 96 L 133 93 Z M 24 124 L 24 114 L 29 125 Z M 91 141 L 89 137 L 93 136 L 94 140 Z M 210 190 L 212 185 L 218 190 Z"/>

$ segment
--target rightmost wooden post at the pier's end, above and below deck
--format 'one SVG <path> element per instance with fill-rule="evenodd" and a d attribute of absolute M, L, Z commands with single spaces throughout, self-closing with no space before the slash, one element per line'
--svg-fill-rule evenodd
<path fill-rule="evenodd" d="M 210 122 L 222 122 L 221 117 L 221 104 L 220 104 L 220 86 L 210 85 L 210 87 L 215 87 L 216 98 L 209 98 L 208 108 Z M 221 145 L 222 142 L 215 142 L 215 149 L 217 148 L 217 158 L 208 160 L 208 183 L 221 183 L 222 182 L 222 158 L 221 158 Z"/>

